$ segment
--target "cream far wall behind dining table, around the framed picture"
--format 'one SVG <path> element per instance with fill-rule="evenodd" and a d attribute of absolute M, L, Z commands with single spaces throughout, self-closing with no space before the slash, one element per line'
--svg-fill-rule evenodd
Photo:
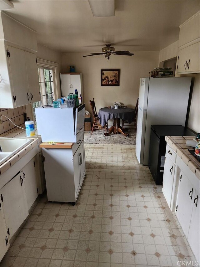
<path fill-rule="evenodd" d="M 63 53 L 62 62 L 63 73 L 69 72 L 70 65 L 75 65 L 75 72 L 83 73 L 84 103 L 89 112 L 89 100 L 93 98 L 97 112 L 116 101 L 135 107 L 140 77 L 149 76 L 149 72 L 157 67 L 159 58 L 159 51 L 135 52 L 133 56 L 111 55 L 109 60 L 104 55 L 83 58 L 87 54 Z M 101 86 L 101 69 L 120 69 L 120 85 Z"/>

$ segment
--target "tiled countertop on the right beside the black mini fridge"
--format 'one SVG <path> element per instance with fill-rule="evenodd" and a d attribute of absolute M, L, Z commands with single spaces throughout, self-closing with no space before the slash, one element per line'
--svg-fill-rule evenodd
<path fill-rule="evenodd" d="M 193 140 L 193 138 L 194 136 L 165 136 L 165 141 L 183 160 L 188 168 L 197 176 L 197 178 L 200 179 L 200 163 L 188 151 L 188 149 L 193 149 L 193 147 L 186 146 L 186 141 Z"/>

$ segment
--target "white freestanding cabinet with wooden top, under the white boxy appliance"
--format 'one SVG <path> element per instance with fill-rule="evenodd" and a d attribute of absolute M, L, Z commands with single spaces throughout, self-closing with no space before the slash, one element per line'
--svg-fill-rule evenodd
<path fill-rule="evenodd" d="M 48 201 L 75 204 L 85 177 L 83 134 L 77 143 L 42 143 Z"/>

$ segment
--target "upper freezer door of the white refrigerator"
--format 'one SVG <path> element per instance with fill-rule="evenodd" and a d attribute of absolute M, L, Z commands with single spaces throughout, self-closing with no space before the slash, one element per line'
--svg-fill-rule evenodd
<path fill-rule="evenodd" d="M 149 89 L 149 78 L 140 78 L 138 105 L 142 110 L 147 109 L 148 89 Z"/>

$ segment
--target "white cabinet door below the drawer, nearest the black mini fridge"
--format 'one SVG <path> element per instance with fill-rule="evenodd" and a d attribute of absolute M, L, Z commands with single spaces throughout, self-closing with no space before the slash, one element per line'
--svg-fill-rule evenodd
<path fill-rule="evenodd" d="M 174 182 L 175 164 L 172 162 L 168 154 L 165 154 L 165 167 L 163 173 L 163 195 L 166 198 L 168 206 L 171 206 L 172 190 Z"/>

